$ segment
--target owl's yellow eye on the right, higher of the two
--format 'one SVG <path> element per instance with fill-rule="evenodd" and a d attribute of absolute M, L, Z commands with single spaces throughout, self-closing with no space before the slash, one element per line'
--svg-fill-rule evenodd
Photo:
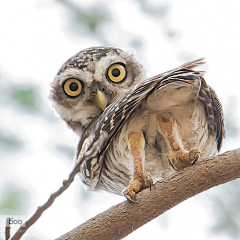
<path fill-rule="evenodd" d="M 125 66 L 120 63 L 115 63 L 107 71 L 108 78 L 115 83 L 120 83 L 125 80 L 127 72 Z"/>

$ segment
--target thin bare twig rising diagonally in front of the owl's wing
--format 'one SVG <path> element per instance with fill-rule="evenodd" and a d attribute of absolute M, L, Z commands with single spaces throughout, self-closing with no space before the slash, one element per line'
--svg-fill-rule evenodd
<path fill-rule="evenodd" d="M 42 213 L 52 205 L 54 200 L 58 196 L 60 196 L 70 186 L 70 184 L 74 180 L 74 177 L 79 172 L 82 162 L 87 159 L 95 157 L 101 147 L 100 143 L 102 143 L 106 138 L 107 138 L 106 133 L 103 133 L 98 138 L 98 140 L 92 145 L 91 149 L 89 149 L 89 151 L 85 152 L 82 155 L 82 157 L 80 159 L 78 159 L 78 163 L 76 164 L 76 166 L 70 173 L 68 179 L 64 180 L 63 185 L 56 192 L 51 194 L 51 196 L 49 197 L 47 202 L 45 204 L 43 204 L 41 207 L 38 207 L 37 211 L 29 218 L 29 220 L 27 220 L 25 223 L 23 223 L 21 225 L 21 227 L 17 230 L 17 232 L 14 234 L 14 236 L 11 238 L 11 240 L 19 240 L 22 237 L 22 235 L 28 230 L 28 228 L 30 228 L 39 219 L 39 217 L 42 215 Z M 7 231 L 7 226 L 5 229 L 6 229 L 5 231 Z M 10 237 L 10 233 L 9 233 L 9 237 Z M 8 237 L 8 239 L 9 239 L 9 237 Z"/>

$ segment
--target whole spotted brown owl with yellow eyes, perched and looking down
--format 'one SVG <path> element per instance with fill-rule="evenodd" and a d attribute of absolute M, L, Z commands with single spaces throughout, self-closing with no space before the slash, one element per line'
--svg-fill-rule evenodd
<path fill-rule="evenodd" d="M 220 151 L 222 106 L 204 72 L 193 70 L 203 63 L 147 78 L 132 54 L 92 47 L 63 64 L 50 98 L 79 135 L 77 162 L 98 144 L 79 169 L 90 190 L 134 201 L 141 189 Z"/>

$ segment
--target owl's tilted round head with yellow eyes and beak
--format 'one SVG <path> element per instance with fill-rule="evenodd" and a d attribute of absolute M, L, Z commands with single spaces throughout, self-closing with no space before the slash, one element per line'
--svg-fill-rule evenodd
<path fill-rule="evenodd" d="M 85 49 L 63 64 L 50 98 L 59 116 L 78 134 L 105 108 L 145 78 L 131 54 L 110 47 Z"/>

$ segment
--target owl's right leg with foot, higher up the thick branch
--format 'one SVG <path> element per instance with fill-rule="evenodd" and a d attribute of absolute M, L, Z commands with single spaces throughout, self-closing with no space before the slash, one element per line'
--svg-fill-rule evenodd
<path fill-rule="evenodd" d="M 173 121 L 169 113 L 159 115 L 157 121 L 171 146 L 172 151 L 167 155 L 171 166 L 175 170 L 181 170 L 194 164 L 200 157 L 200 148 L 194 148 L 189 152 L 182 148 L 180 138 L 174 134 Z"/>

